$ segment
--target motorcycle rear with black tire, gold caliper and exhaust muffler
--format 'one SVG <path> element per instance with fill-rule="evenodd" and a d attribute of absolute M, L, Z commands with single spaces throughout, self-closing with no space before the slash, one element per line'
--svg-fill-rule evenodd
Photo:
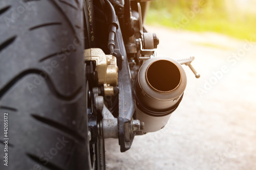
<path fill-rule="evenodd" d="M 181 64 L 159 57 L 143 26 L 147 0 L 0 2 L 1 169 L 105 169 L 164 128 L 186 87 Z M 9 128 L 9 129 L 8 129 Z"/>

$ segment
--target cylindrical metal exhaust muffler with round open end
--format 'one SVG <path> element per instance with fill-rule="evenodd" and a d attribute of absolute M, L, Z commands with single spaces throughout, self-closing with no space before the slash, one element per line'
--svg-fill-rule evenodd
<path fill-rule="evenodd" d="M 144 122 L 143 132 L 155 132 L 167 124 L 182 100 L 186 82 L 184 69 L 174 59 L 154 57 L 142 64 L 134 89 L 136 119 Z"/>

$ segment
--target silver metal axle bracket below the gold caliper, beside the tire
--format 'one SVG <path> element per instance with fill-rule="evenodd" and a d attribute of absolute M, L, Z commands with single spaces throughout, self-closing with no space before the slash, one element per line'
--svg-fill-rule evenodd
<path fill-rule="evenodd" d="M 102 116 L 103 137 L 118 138 L 118 120 L 105 105 L 103 105 Z"/>

